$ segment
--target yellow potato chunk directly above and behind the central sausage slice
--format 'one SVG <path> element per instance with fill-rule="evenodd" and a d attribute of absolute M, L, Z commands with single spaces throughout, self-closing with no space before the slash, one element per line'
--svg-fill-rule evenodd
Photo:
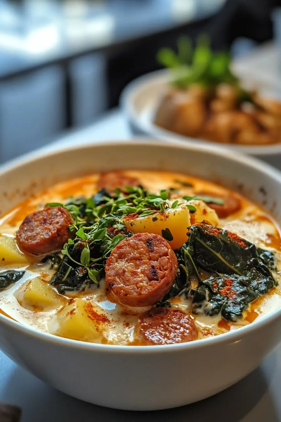
<path fill-rule="evenodd" d="M 130 219 L 123 219 L 132 233 L 154 233 L 162 236 L 162 230 L 170 230 L 173 240 L 168 241 L 172 249 L 180 248 L 187 241 L 187 227 L 190 226 L 189 209 L 180 206 L 165 212 Z"/>

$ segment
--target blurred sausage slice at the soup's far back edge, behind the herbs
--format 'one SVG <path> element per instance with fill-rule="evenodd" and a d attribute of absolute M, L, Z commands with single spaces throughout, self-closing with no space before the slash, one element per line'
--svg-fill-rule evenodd
<path fill-rule="evenodd" d="M 126 192 L 126 186 L 138 186 L 139 180 L 135 177 L 126 176 L 121 171 L 110 171 L 102 173 L 97 181 L 98 190 L 104 188 L 107 192 L 114 194 L 116 188 L 120 188 L 122 192 Z"/>

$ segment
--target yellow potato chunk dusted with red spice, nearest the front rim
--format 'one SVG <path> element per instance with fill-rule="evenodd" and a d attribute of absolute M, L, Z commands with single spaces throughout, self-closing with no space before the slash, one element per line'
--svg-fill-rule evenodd
<path fill-rule="evenodd" d="M 80 341 L 98 341 L 108 322 L 104 314 L 89 302 L 75 298 L 49 322 L 51 334 Z"/>

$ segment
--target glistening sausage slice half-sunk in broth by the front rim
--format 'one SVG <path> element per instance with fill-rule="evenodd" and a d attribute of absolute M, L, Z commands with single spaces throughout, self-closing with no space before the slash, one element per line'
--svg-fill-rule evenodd
<path fill-rule="evenodd" d="M 154 308 L 142 314 L 136 330 L 149 344 L 184 343 L 198 337 L 193 319 L 176 308 Z"/>

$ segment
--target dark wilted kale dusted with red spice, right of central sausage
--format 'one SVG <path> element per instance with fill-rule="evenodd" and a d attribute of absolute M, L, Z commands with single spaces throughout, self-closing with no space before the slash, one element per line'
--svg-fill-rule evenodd
<path fill-rule="evenodd" d="M 221 312 L 225 319 L 236 321 L 252 300 L 277 284 L 265 264 L 265 258 L 274 262 L 274 257 L 235 233 L 203 223 L 191 226 L 186 249 L 196 267 L 218 274 L 192 290 L 193 302 L 199 303 L 195 311 L 203 307 L 206 314 Z"/>

